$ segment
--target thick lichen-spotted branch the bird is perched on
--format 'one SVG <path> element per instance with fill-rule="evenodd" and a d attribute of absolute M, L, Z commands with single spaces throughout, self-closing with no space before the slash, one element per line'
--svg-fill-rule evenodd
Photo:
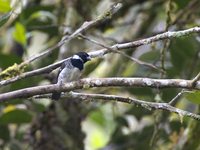
<path fill-rule="evenodd" d="M 15 98 L 28 98 L 34 95 L 47 94 L 52 92 L 67 92 L 75 89 L 92 87 L 150 87 L 150 88 L 185 88 L 200 90 L 200 81 L 195 86 L 191 80 L 181 79 L 150 79 L 150 78 L 86 78 L 76 82 L 59 85 L 44 85 L 24 88 L 8 93 L 0 94 L 0 102 Z"/>

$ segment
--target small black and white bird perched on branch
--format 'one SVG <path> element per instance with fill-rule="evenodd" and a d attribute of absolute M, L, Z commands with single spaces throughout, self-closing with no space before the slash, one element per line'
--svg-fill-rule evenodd
<path fill-rule="evenodd" d="M 78 52 L 71 58 L 67 59 L 61 65 L 57 76 L 57 84 L 62 85 L 67 82 L 76 81 L 81 76 L 81 71 L 84 68 L 84 63 L 91 60 L 91 57 L 86 52 Z M 54 92 L 52 94 L 53 100 L 58 100 L 61 96 L 61 92 Z"/>

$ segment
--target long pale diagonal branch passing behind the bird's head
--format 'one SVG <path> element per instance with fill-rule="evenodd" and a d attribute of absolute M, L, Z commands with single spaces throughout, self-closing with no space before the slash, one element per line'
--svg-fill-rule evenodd
<path fill-rule="evenodd" d="M 200 27 L 194 27 L 194 28 L 190 28 L 190 29 L 182 30 L 182 31 L 173 31 L 173 32 L 168 31 L 168 32 L 158 34 L 158 35 L 155 35 L 155 36 L 152 36 L 152 37 L 149 37 L 149 38 L 146 38 L 146 39 L 142 39 L 142 40 L 137 40 L 137 41 L 123 43 L 123 44 L 115 44 L 115 45 L 111 46 L 109 49 L 121 50 L 121 49 L 126 49 L 126 48 L 134 48 L 134 47 L 150 44 L 150 43 L 153 43 L 155 41 L 159 41 L 159 40 L 163 40 L 163 39 L 171 39 L 171 38 L 174 38 L 174 37 L 181 37 L 181 36 L 186 36 L 186 35 L 189 35 L 189 34 L 192 34 L 192 33 L 199 33 L 199 32 L 200 32 Z M 97 51 L 94 51 L 94 52 L 90 52 L 89 54 L 93 58 L 94 57 L 101 57 L 101 56 L 103 56 L 107 53 L 113 52 L 109 49 L 105 48 L 105 49 L 97 50 Z M 40 68 L 40 69 L 37 69 L 37 70 L 33 70 L 33 71 L 30 71 L 30 72 L 23 73 L 23 74 L 21 74 L 17 77 L 14 77 L 14 78 L 11 78 L 11 79 L 8 79 L 8 80 L 3 80 L 3 81 L 0 82 L 0 86 L 13 83 L 13 82 L 20 80 L 20 79 L 23 79 L 23 78 L 28 78 L 28 77 L 31 77 L 31 76 L 36 76 L 36 75 L 39 75 L 39 74 L 51 72 L 53 69 L 56 69 L 57 67 L 59 67 L 62 64 L 63 61 L 64 60 L 59 61 L 59 62 L 52 64 L 52 65 L 46 66 L 44 68 Z"/>

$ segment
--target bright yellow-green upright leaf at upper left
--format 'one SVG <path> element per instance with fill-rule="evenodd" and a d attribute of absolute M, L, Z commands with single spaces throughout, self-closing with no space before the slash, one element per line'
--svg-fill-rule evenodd
<path fill-rule="evenodd" d="M 15 31 L 13 32 L 13 38 L 16 42 L 24 46 L 26 45 L 26 29 L 19 22 L 15 24 Z"/>

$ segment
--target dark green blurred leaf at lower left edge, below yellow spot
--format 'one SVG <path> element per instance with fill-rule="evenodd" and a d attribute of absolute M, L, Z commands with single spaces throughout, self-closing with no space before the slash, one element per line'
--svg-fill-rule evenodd
<path fill-rule="evenodd" d="M 30 114 L 30 112 L 22 109 L 15 109 L 0 116 L 0 124 L 29 123 L 31 120 L 32 115 Z"/>

